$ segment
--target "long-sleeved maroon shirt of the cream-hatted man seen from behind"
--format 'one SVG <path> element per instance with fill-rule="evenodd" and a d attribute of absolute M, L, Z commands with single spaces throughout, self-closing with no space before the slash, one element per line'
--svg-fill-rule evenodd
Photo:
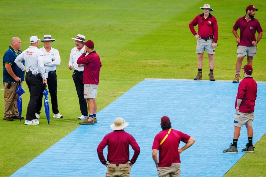
<path fill-rule="evenodd" d="M 100 142 L 97 153 L 102 164 L 106 164 L 103 149 L 108 146 L 107 161 L 112 164 L 124 164 L 129 161 L 129 145 L 134 150 L 132 164 L 137 160 L 140 148 L 135 138 L 124 130 L 117 130 L 105 135 Z"/>

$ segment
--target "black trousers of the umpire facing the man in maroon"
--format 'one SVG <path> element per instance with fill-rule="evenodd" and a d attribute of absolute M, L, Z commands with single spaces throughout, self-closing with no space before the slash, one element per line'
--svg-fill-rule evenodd
<path fill-rule="evenodd" d="M 79 97 L 79 108 L 83 116 L 88 116 L 87 101 L 84 98 L 83 72 L 74 71 L 72 74 L 73 81 Z"/>

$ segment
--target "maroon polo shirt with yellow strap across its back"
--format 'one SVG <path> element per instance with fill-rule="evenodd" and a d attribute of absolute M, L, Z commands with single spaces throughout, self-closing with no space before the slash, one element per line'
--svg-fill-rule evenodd
<path fill-rule="evenodd" d="M 172 163 L 180 163 L 180 157 L 178 152 L 178 146 L 180 141 L 187 143 L 190 136 L 172 129 L 168 137 L 165 139 L 162 145 L 160 142 L 164 139 L 168 130 L 163 130 L 158 133 L 153 141 L 152 149 L 159 150 L 159 164 L 158 167 L 170 167 Z"/>

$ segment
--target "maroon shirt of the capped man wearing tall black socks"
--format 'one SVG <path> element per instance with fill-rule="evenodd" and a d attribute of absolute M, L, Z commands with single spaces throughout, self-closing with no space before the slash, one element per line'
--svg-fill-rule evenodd
<path fill-rule="evenodd" d="M 254 112 L 255 100 L 257 99 L 257 83 L 252 77 L 245 77 L 238 85 L 238 92 L 235 99 L 235 108 L 237 99 L 242 102 L 239 106 L 239 112 Z"/>

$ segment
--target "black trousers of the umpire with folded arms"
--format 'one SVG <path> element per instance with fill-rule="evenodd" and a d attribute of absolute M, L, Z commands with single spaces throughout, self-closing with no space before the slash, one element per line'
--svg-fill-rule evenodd
<path fill-rule="evenodd" d="M 48 91 L 51 96 L 51 103 L 52 103 L 52 110 L 54 114 L 59 113 L 58 111 L 58 104 L 57 104 L 57 75 L 56 72 L 53 72 L 52 74 L 49 74 L 47 77 L 47 85 L 48 85 Z M 44 90 L 45 85 L 43 84 L 42 90 L 40 93 L 40 96 L 37 100 L 36 104 L 36 113 L 40 114 L 41 109 L 42 109 L 42 97 L 43 97 L 43 90 Z"/>

